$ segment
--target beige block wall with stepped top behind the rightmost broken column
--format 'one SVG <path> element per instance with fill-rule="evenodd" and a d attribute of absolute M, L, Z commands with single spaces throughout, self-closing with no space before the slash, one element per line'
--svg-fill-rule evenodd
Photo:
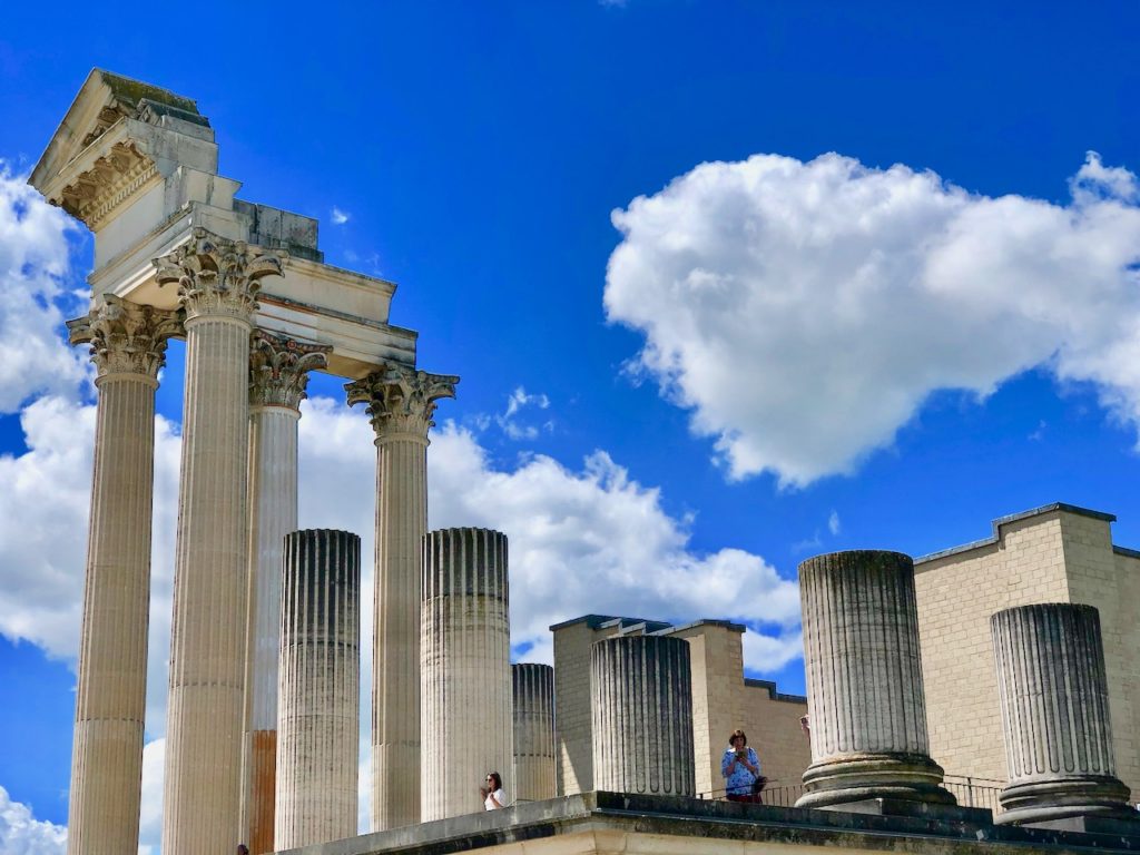
<path fill-rule="evenodd" d="M 997 521 L 997 537 L 915 563 L 930 752 L 948 775 L 1005 781 L 988 619 L 1016 605 L 1101 610 L 1117 773 L 1140 787 L 1140 557 L 1114 552 L 1109 518 L 1049 506 Z"/>

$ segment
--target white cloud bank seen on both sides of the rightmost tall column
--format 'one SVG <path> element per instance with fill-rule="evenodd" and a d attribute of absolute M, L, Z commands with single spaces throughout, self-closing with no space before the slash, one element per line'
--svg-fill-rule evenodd
<path fill-rule="evenodd" d="M 359 534 L 369 577 L 372 429 L 361 414 L 328 399 L 306 401 L 302 412 L 301 524 Z M 540 455 L 502 470 L 474 433 L 447 423 L 432 434 L 427 461 L 432 528 L 494 528 L 511 539 L 511 633 L 526 659 L 551 661 L 547 627 L 589 612 L 771 625 L 792 644 L 752 644 L 759 656 L 747 659 L 749 668 L 776 669 L 798 656 L 789 635 L 799 621 L 796 584 L 741 549 L 693 553 L 686 521 L 670 518 L 658 490 L 632 480 L 604 453 L 579 471 Z"/>

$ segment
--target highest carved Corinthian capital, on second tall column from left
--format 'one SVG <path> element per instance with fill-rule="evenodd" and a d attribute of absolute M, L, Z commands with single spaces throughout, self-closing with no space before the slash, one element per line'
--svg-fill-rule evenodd
<path fill-rule="evenodd" d="M 287 258 L 196 228 L 189 243 L 154 260 L 155 278 L 158 285 L 178 285 L 187 320 L 220 315 L 247 321 L 258 308 L 261 279 L 280 276 Z"/>

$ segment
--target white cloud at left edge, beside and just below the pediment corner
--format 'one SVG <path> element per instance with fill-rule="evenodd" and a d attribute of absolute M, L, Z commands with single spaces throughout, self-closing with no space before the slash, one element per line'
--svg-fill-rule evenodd
<path fill-rule="evenodd" d="M 0 414 L 34 394 L 70 393 L 88 376 L 81 356 L 59 347 L 74 223 L 0 161 Z"/>

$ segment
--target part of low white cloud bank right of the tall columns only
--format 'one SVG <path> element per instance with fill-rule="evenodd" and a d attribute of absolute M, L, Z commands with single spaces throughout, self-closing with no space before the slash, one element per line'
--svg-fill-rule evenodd
<path fill-rule="evenodd" d="M 685 521 L 665 513 L 658 490 L 632 480 L 604 451 L 580 471 L 542 455 L 503 471 L 472 433 L 448 424 L 432 440 L 429 484 L 432 527 L 478 526 L 510 537 L 512 642 L 530 648 L 526 659 L 551 661 L 547 627 L 591 612 L 734 618 L 781 632 L 799 621 L 795 583 L 741 549 L 693 553 Z M 775 669 L 795 656 L 781 651 L 748 665 Z"/>

